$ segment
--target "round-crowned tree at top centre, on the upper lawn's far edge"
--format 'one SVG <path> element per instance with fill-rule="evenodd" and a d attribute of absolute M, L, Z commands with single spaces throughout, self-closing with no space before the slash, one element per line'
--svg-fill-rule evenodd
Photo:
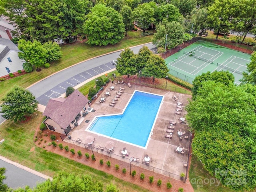
<path fill-rule="evenodd" d="M 138 22 L 138 26 L 145 34 L 146 29 L 152 24 L 154 19 L 154 9 L 149 3 L 139 4 L 133 11 L 134 19 Z"/>

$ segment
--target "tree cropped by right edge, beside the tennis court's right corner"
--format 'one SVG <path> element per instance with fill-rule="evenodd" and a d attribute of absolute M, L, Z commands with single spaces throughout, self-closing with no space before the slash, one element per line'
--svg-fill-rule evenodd
<path fill-rule="evenodd" d="M 243 72 L 241 82 L 256 85 L 256 52 L 252 53 L 251 62 L 247 64 L 247 72 Z"/>

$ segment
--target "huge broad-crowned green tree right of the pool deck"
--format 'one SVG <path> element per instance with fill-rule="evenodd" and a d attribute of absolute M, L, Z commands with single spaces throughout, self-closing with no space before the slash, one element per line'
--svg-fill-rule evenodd
<path fill-rule="evenodd" d="M 256 98 L 241 86 L 204 81 L 186 106 L 192 147 L 204 168 L 234 190 L 256 187 Z"/>

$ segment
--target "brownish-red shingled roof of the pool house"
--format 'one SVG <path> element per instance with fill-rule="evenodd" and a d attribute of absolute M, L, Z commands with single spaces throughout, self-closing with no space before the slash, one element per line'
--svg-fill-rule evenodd
<path fill-rule="evenodd" d="M 43 115 L 48 116 L 60 127 L 66 129 L 89 100 L 78 90 L 68 98 L 50 99 Z"/>

